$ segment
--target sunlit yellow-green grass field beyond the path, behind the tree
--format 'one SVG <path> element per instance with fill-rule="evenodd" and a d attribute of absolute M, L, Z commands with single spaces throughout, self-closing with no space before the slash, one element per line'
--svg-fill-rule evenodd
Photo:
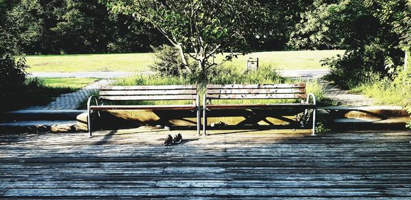
<path fill-rule="evenodd" d="M 320 60 L 343 50 L 324 51 L 269 51 L 239 56 L 225 65 L 245 67 L 247 58 L 259 58 L 260 65 L 271 65 L 279 69 L 318 69 Z M 217 56 L 217 60 L 223 58 Z M 153 53 L 89 54 L 89 55 L 29 55 L 28 72 L 79 72 L 79 71 L 149 71 L 153 64 Z"/>

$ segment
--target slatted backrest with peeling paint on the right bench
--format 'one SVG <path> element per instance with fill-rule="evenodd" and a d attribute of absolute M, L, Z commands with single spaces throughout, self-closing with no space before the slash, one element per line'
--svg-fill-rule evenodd
<path fill-rule="evenodd" d="M 306 99 L 306 84 L 207 85 L 207 99 Z"/>

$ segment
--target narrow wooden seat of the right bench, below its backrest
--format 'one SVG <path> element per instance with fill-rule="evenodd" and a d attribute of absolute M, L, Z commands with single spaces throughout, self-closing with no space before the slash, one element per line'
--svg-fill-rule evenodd
<path fill-rule="evenodd" d="M 266 104 L 208 104 L 210 109 L 245 109 L 245 108 L 314 108 L 311 103 L 266 103 Z"/>

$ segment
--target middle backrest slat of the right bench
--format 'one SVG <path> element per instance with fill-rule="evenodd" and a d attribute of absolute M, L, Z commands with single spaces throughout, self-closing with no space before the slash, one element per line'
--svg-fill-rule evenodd
<path fill-rule="evenodd" d="M 290 94 L 306 93 L 305 88 L 278 88 L 278 89 L 217 89 L 207 90 L 207 94 Z"/>

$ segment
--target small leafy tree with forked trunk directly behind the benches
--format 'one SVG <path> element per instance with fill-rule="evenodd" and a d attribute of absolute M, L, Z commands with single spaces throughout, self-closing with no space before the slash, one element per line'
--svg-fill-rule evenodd
<path fill-rule="evenodd" d="M 216 53 L 239 52 L 227 55 L 226 60 L 231 60 L 251 51 L 248 41 L 260 33 L 258 28 L 265 13 L 253 0 L 104 2 L 114 12 L 133 15 L 156 27 L 179 49 L 186 71 L 196 71 L 201 80 L 216 65 L 212 59 Z M 197 69 L 189 67 L 187 55 L 198 63 Z"/>

